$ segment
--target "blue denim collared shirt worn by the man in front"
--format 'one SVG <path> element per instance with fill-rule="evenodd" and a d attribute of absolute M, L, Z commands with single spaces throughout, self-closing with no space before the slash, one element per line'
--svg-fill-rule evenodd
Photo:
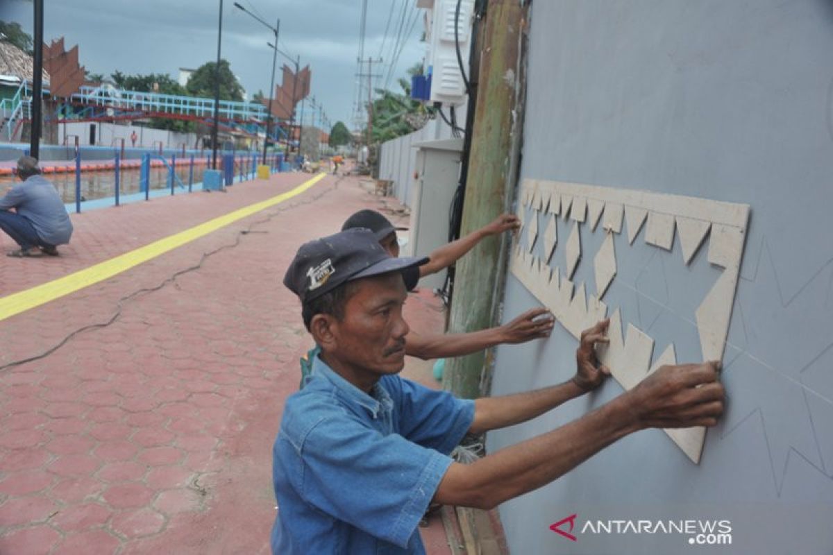
<path fill-rule="evenodd" d="M 384 376 L 366 394 L 316 357 L 274 448 L 272 553 L 425 553 L 417 526 L 474 402 Z"/>

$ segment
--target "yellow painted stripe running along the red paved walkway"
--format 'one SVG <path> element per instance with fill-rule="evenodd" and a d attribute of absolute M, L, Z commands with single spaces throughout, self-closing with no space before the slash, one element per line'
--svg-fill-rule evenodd
<path fill-rule="evenodd" d="M 110 260 L 105 260 L 97 265 L 92 265 L 89 268 L 78 270 L 69 275 L 65 275 L 57 280 L 48 281 L 45 284 L 37 285 L 31 289 L 22 290 L 12 295 L 7 295 L 0 298 L 0 320 L 6 320 L 13 315 L 18 315 L 26 310 L 33 309 L 40 305 L 45 305 L 51 300 L 56 300 L 62 296 L 74 293 L 84 287 L 95 285 L 103 280 L 111 278 L 113 275 L 121 274 L 125 270 L 130 270 L 133 266 L 152 260 L 159 255 L 165 254 L 168 250 L 176 249 L 178 246 L 190 243 L 192 240 L 199 239 L 203 235 L 208 235 L 212 231 L 219 230 L 226 225 L 232 224 L 235 221 L 242 220 L 247 216 L 252 216 L 259 211 L 266 210 L 272 206 L 288 201 L 293 196 L 298 196 L 302 192 L 307 191 L 310 187 L 321 181 L 326 174 L 318 174 L 312 179 L 303 182 L 301 185 L 277 196 L 273 196 L 266 201 L 256 202 L 255 204 L 244 206 L 243 208 L 229 212 L 224 216 L 218 216 L 213 220 L 209 220 L 200 225 L 195 225 L 184 231 L 180 231 L 174 235 L 168 235 L 163 239 L 153 241 L 149 245 L 139 247 L 136 250 L 131 250 L 123 255 L 118 255 Z"/>

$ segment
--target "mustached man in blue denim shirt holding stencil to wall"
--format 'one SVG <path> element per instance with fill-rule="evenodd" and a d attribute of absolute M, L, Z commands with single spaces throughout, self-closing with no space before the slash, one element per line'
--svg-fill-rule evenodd
<path fill-rule="evenodd" d="M 451 461 L 466 432 L 518 424 L 598 387 L 594 346 L 581 336 L 576 375 L 546 389 L 463 401 L 401 379 L 408 326 L 402 270 L 369 230 L 302 245 L 284 284 L 321 346 L 302 391 L 287 399 L 274 448 L 273 553 L 424 553 L 428 504 L 492 508 L 558 478 L 640 429 L 711 426 L 723 410 L 716 364 L 666 366 L 634 389 L 547 434 L 475 463 Z"/>

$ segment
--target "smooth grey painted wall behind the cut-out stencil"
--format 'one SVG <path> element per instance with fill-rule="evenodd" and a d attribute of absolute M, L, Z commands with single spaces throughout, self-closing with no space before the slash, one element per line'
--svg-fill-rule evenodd
<path fill-rule="evenodd" d="M 751 223 L 724 358 L 729 404 L 700 465 L 661 431 L 623 439 L 501 507 L 512 553 L 833 553 L 833 2 L 535 2 L 530 48 L 521 178 L 742 202 Z M 590 294 L 602 235 L 581 234 L 574 281 Z M 678 238 L 666 252 L 644 234 L 632 246 L 616 237 L 605 300 L 656 340 L 655 358 L 673 341 L 678 359 L 700 360 L 694 310 L 718 270 L 704 248 L 686 267 Z M 563 267 L 558 256 L 551 265 Z M 532 305 L 510 275 L 506 319 Z M 546 342 L 501 347 L 492 394 L 569 379 L 575 348 L 557 326 Z M 611 381 L 492 433 L 490 451 L 618 394 Z M 549 529 L 573 513 L 579 527 L 728 518 L 733 543 L 634 533 L 573 543 Z"/>

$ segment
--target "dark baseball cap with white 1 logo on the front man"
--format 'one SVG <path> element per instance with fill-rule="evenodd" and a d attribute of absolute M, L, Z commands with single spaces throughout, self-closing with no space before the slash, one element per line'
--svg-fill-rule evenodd
<path fill-rule="evenodd" d="M 353 228 L 301 245 L 283 276 L 283 285 L 304 304 L 347 281 L 402 271 L 427 261 L 392 258 L 371 230 Z"/>

